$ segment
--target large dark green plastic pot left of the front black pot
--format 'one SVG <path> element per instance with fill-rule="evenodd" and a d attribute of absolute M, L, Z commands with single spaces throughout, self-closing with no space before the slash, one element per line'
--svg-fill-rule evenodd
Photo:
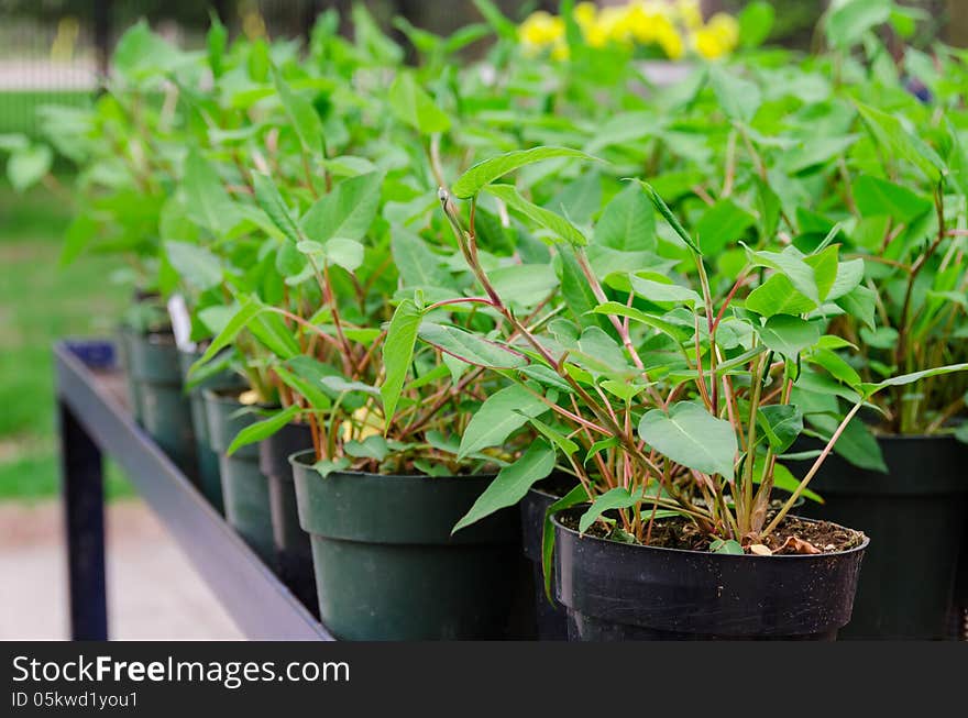
<path fill-rule="evenodd" d="M 346 640 L 496 639 L 521 627 L 517 509 L 451 535 L 493 476 L 333 472 L 292 457 L 323 625 Z"/>

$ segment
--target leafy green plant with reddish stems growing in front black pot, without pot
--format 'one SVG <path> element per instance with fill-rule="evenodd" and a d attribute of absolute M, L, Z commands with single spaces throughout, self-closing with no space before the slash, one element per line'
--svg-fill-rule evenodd
<path fill-rule="evenodd" d="M 835 234 L 811 253 L 793 246 L 748 250 L 737 288 L 757 277 L 756 288 L 745 299 L 730 291 L 719 300 L 710 289 L 700 244 L 654 190 L 642 185 L 689 248 L 697 287 L 673 283 L 649 268 L 613 273 L 601 283 L 576 227 L 531 205 L 513 186 L 492 184 L 552 153 L 512 153 L 468 170 L 452 190 L 469 200 L 466 224 L 446 190 L 441 201 L 464 258 L 484 289 L 476 301 L 503 320 L 502 340 L 486 341 L 522 361 L 508 366 L 482 360 L 480 365 L 512 379 L 522 393 L 540 397 L 553 411 L 552 420 L 528 420 L 542 434 L 546 450 L 557 450 L 565 471 L 581 483 L 572 499 L 592 501 L 580 530 L 602 521 L 616 540 L 649 543 L 656 520 L 675 515 L 685 517 L 704 545 L 714 550 L 823 551 L 795 535 L 777 539 L 774 534 L 851 419 L 886 388 L 968 365 L 877 384 L 858 380 L 824 387 L 849 397 L 853 408 L 838 418 L 810 471 L 794 478 L 782 461 L 803 429 L 803 410 L 792 401 L 803 376 L 803 357 L 844 344 L 824 332 L 826 307 L 861 281 L 856 267 L 839 259 L 839 246 L 832 243 Z M 496 196 L 510 210 L 550 230 L 559 258 L 570 257 L 566 261 L 580 268 L 593 301 L 579 321 L 556 319 L 538 330 L 518 319 L 479 259 L 474 217 L 480 192 Z M 784 303 L 784 292 L 796 301 Z M 425 329 L 420 336 L 433 346 L 448 347 L 439 329 Z M 552 389 L 559 400 L 548 396 Z M 542 477 L 539 472 L 514 471 L 516 466 L 503 472 L 458 528 L 515 502 Z M 774 486 L 790 495 L 771 511 Z M 617 518 L 608 518 L 606 511 Z"/>

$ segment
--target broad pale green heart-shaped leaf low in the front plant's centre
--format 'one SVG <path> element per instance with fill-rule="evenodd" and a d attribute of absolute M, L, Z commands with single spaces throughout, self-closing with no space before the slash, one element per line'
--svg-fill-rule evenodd
<path fill-rule="evenodd" d="M 679 401 L 669 413 L 661 409 L 647 411 L 639 422 L 639 435 L 678 464 L 733 479 L 736 432 L 728 421 L 717 419 L 698 404 Z"/>

